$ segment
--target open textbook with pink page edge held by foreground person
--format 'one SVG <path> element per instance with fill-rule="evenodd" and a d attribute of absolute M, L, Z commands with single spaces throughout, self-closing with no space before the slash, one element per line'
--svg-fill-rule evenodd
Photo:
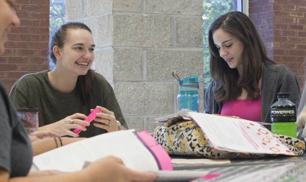
<path fill-rule="evenodd" d="M 208 173 L 172 171 L 167 152 L 146 130 L 136 133 L 134 129 L 105 133 L 59 147 L 34 156 L 33 164 L 38 170 L 74 172 L 82 170 L 85 163 L 109 155 L 121 158 L 130 169 L 157 173 L 157 181 L 193 180 Z"/>

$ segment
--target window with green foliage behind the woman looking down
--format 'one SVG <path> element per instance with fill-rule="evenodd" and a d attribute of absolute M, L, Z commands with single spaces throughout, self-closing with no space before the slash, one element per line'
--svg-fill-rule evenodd
<path fill-rule="evenodd" d="M 208 31 L 211 23 L 220 15 L 229 11 L 242 11 L 248 14 L 247 0 L 203 0 L 203 90 L 204 96 L 206 89 L 211 82 L 209 72 L 209 48 Z M 205 104 L 204 104 L 204 107 Z"/>

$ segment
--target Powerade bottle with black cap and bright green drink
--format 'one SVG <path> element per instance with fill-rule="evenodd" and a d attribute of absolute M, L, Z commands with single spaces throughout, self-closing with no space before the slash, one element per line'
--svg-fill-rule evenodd
<path fill-rule="evenodd" d="M 289 93 L 278 93 L 276 101 L 271 106 L 271 131 L 275 134 L 297 138 L 297 107 L 288 100 Z"/>

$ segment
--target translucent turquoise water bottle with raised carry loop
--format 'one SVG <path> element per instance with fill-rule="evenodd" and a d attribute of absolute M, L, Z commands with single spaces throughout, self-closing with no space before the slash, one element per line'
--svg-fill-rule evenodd
<path fill-rule="evenodd" d="M 181 109 L 189 109 L 194 112 L 199 112 L 199 82 L 197 76 L 190 76 L 184 79 L 172 72 L 172 76 L 177 79 L 179 84 L 179 93 L 177 95 L 177 111 Z"/>

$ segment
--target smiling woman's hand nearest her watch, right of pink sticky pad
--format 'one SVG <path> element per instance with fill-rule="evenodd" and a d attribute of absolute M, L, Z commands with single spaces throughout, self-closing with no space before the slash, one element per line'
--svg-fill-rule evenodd
<path fill-rule="evenodd" d="M 94 121 L 100 122 L 102 124 L 94 123 L 94 126 L 105 129 L 108 132 L 118 131 L 118 122 L 116 120 L 114 112 L 101 106 L 97 106 L 97 108 L 101 110 L 101 112 L 96 114 L 97 117 L 95 117 Z M 90 111 L 92 112 L 93 109 L 91 109 Z M 122 129 L 125 128 L 122 127 Z"/>

